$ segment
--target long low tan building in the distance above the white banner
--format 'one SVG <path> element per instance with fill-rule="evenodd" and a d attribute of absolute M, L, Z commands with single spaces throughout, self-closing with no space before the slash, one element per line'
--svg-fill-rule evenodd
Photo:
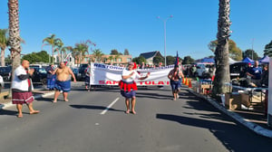
<path fill-rule="evenodd" d="M 94 57 L 92 54 L 85 55 L 82 60 L 82 64 L 90 62 L 102 62 L 106 64 L 126 64 L 132 61 L 131 55 L 102 55 L 101 58 Z M 75 60 L 75 64 L 79 64 L 78 60 Z"/>

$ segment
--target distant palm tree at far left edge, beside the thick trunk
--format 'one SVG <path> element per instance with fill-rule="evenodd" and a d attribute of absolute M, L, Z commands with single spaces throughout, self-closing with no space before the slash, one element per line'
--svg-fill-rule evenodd
<path fill-rule="evenodd" d="M 1 66 L 5 66 L 5 49 L 8 44 L 7 29 L 0 29 Z"/>

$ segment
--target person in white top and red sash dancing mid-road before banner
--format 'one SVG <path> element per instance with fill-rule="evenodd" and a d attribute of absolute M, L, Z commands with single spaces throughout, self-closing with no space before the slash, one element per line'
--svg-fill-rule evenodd
<path fill-rule="evenodd" d="M 121 73 L 121 81 L 119 83 L 121 89 L 121 96 L 125 98 L 126 103 L 126 113 L 136 114 L 135 104 L 136 104 L 136 90 L 137 85 L 135 80 L 145 80 L 150 76 L 150 72 L 147 73 L 145 77 L 141 77 L 140 74 L 133 69 L 134 63 L 129 62 L 128 68 L 123 69 Z M 131 99 L 131 109 L 130 109 L 130 99 Z"/>

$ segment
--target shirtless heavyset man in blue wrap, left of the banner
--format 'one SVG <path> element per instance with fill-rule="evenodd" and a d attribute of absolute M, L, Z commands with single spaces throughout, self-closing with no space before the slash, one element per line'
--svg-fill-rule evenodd
<path fill-rule="evenodd" d="M 56 83 L 55 83 L 55 92 L 53 102 L 57 102 L 61 91 L 63 91 L 63 100 L 69 101 L 67 99 L 68 92 L 71 90 L 71 76 L 73 81 L 76 82 L 73 71 L 65 65 L 64 62 L 60 63 L 60 66 L 53 71 L 53 74 L 56 74 Z"/>

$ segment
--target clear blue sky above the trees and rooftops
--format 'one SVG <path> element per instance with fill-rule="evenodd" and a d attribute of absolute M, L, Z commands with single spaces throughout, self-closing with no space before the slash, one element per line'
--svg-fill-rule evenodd
<path fill-rule="evenodd" d="M 23 53 L 41 51 L 50 33 L 73 45 L 90 39 L 97 49 L 110 53 L 129 49 L 162 54 L 163 23 L 156 17 L 173 15 L 167 23 L 167 55 L 212 55 L 208 43 L 216 39 L 219 0 L 19 0 Z M 251 48 L 262 56 L 272 40 L 271 0 L 232 0 L 231 30 L 243 51 Z M 8 27 L 7 0 L 0 1 L 0 28 Z M 44 47 L 49 51 L 49 47 Z"/>

